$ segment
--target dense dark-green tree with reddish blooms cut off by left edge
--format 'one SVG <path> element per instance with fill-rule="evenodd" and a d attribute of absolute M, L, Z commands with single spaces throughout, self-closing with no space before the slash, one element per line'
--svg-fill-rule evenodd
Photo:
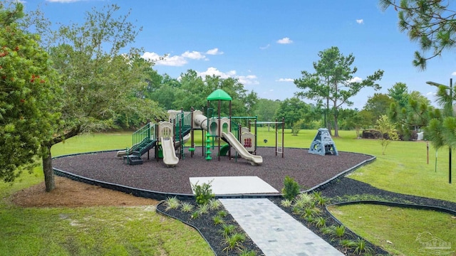
<path fill-rule="evenodd" d="M 0 178 L 10 182 L 46 154 L 40 145 L 53 135 L 61 92 L 38 36 L 18 26 L 23 8 L 0 4 Z"/>

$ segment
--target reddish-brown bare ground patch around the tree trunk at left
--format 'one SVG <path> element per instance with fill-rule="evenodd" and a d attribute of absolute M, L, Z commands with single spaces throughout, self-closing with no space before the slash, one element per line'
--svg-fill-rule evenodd
<path fill-rule="evenodd" d="M 158 203 L 59 176 L 53 191 L 46 192 L 43 182 L 15 193 L 11 201 L 24 207 L 156 206 Z"/>

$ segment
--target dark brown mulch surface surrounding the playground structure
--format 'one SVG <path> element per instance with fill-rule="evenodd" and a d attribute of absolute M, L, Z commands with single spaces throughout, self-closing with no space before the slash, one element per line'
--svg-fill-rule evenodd
<path fill-rule="evenodd" d="M 212 150 L 217 151 L 217 148 Z M 259 147 L 257 155 L 263 157 L 263 164 L 252 166 L 249 161 L 212 154 L 212 160 L 205 160 L 202 148 L 197 147 L 193 157 L 185 150 L 185 159 L 175 167 L 167 167 L 162 160 L 142 156 L 143 164 L 130 166 L 115 156 L 116 151 L 96 154 L 80 154 L 53 159 L 53 167 L 79 176 L 109 183 L 118 183 L 133 188 L 142 188 L 164 193 L 191 194 L 189 177 L 212 176 L 258 176 L 277 191 L 284 186 L 285 176 L 294 178 L 304 188 L 311 188 L 329 178 L 351 169 L 372 156 L 339 152 L 338 156 L 309 154 L 307 149 L 284 149 L 284 158 L 275 148 Z"/>

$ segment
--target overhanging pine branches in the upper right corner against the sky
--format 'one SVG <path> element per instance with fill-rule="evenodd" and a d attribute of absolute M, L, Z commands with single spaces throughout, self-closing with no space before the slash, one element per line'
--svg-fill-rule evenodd
<path fill-rule="evenodd" d="M 426 62 L 455 48 L 456 12 L 452 1 L 380 0 L 385 10 L 393 6 L 398 11 L 399 29 L 406 31 L 411 41 L 418 41 L 421 52 L 415 51 L 413 65 L 425 70 Z M 429 53 L 430 52 L 430 53 Z M 427 55 L 429 53 L 429 55 Z"/>

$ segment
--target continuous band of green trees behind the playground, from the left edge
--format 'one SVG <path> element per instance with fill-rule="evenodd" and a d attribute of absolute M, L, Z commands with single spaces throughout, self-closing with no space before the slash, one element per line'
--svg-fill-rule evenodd
<path fill-rule="evenodd" d="M 318 53 L 313 72 L 304 70 L 294 80 L 298 89 L 294 97 L 266 100 L 246 90 L 237 78 L 202 78 L 195 70 L 179 78 L 158 74 L 153 62 L 141 58 L 144 50 L 130 46 L 141 28 L 119 9 L 115 4 L 93 9 L 83 24 L 58 24 L 53 30 L 39 9 L 24 15 L 20 2 L 0 3 L 0 178 L 4 181 L 31 170 L 38 156 L 46 191 L 51 191 L 54 144 L 84 132 L 135 129 L 150 119 L 165 119 L 170 109 L 202 109 L 207 107 L 207 95 L 216 89 L 232 96 L 234 116 L 257 116 L 260 121 L 284 117 L 286 127 L 328 127 L 338 136 L 339 128 L 373 127 L 380 114 L 388 112 L 403 136 L 430 123 L 437 127 L 429 129 L 431 137 L 440 139 L 440 146 L 447 143 L 439 137 L 438 125 L 446 124 L 440 117 L 449 115 L 430 107 L 423 95 L 408 91 L 400 82 L 386 95 L 369 97 L 363 110 L 344 109 L 363 88 L 379 90 L 383 70 L 354 80 L 354 56 L 343 55 L 335 46 Z M 439 90 L 442 99 L 447 97 L 444 89 Z M 222 107 L 222 114 L 227 115 L 227 110 Z"/>

